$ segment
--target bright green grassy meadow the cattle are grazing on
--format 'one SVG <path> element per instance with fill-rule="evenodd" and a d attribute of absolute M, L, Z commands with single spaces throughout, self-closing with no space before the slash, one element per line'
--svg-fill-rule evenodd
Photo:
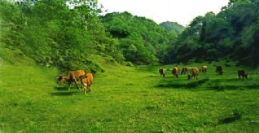
<path fill-rule="evenodd" d="M 0 57 L 0 132 L 259 132 L 259 76 L 238 80 L 245 67 L 224 67 L 218 76 L 213 65 L 225 63 L 213 62 L 207 75 L 187 81 L 169 71 L 159 77 L 161 66 L 128 68 L 97 57 L 105 73 L 85 96 L 57 85 L 57 70 L 19 51 L 0 49 Z"/>

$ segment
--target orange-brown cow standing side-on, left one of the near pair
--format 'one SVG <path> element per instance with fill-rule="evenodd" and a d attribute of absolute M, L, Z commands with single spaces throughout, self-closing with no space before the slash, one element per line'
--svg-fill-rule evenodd
<path fill-rule="evenodd" d="M 57 78 L 57 83 L 64 83 L 64 82 L 68 82 L 69 88 L 68 90 L 70 90 L 71 87 L 71 83 L 75 82 L 76 86 L 78 89 L 80 89 L 80 87 L 77 84 L 77 81 L 80 81 L 80 76 L 85 75 L 85 71 L 84 70 L 75 70 L 75 71 L 70 71 L 67 75 L 63 75 L 63 76 L 59 76 Z"/>

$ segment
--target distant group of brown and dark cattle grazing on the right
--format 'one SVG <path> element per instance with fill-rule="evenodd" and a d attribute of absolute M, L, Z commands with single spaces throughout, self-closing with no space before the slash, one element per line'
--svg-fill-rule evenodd
<path fill-rule="evenodd" d="M 178 66 L 176 66 L 173 69 L 171 69 L 171 71 L 172 71 L 172 74 L 175 75 L 176 78 L 179 77 L 179 73 L 181 73 L 182 75 L 188 74 L 187 79 L 190 80 L 192 78 L 198 79 L 199 72 L 202 72 L 202 73 L 206 74 L 207 69 L 208 69 L 207 66 L 203 66 L 200 69 L 197 68 L 197 67 L 183 67 L 182 69 L 180 69 Z M 165 77 L 166 70 L 167 69 L 160 68 L 159 69 L 160 75 Z M 216 66 L 216 73 L 219 74 L 219 75 L 223 75 L 223 69 L 222 69 L 221 66 Z M 245 70 L 238 70 L 237 73 L 238 73 L 239 79 L 241 79 L 241 78 L 247 79 L 248 74 L 245 72 Z"/>

